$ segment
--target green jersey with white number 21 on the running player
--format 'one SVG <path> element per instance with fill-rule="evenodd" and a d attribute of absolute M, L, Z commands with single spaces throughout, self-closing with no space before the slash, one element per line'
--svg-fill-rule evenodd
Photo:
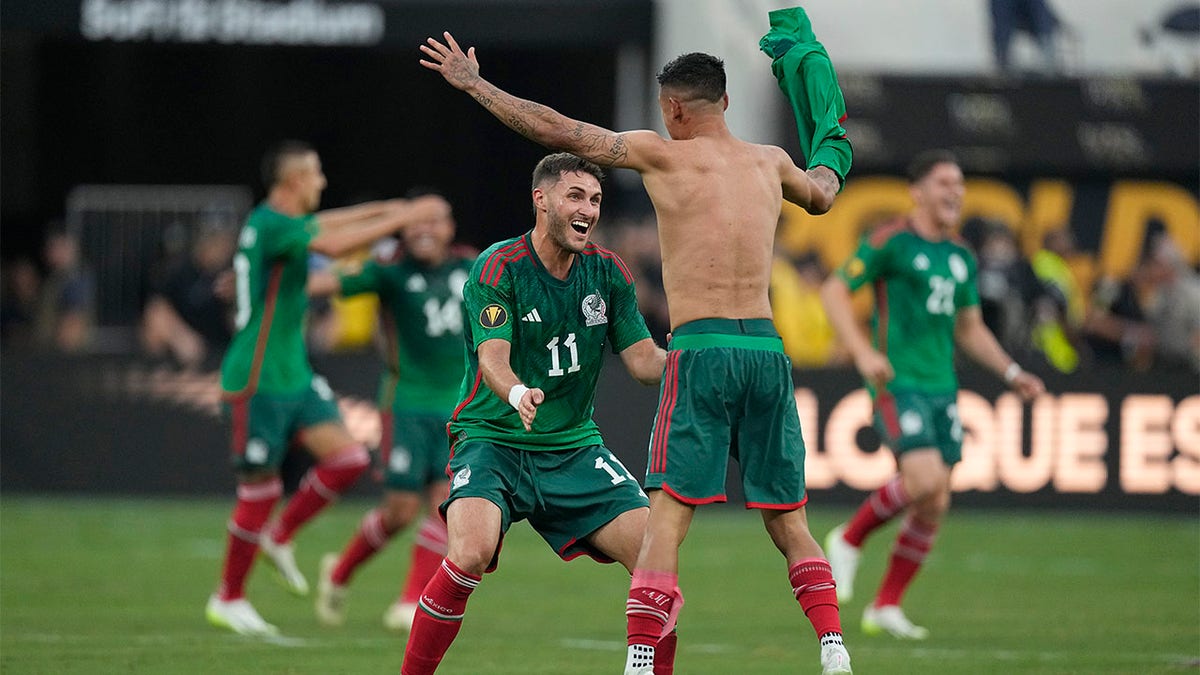
<path fill-rule="evenodd" d="M 875 286 L 871 338 L 895 370 L 889 390 L 958 389 L 955 315 L 979 304 L 970 249 L 956 240 L 923 239 L 907 219 L 900 219 L 864 237 L 838 274 L 851 291 L 868 282 Z"/>

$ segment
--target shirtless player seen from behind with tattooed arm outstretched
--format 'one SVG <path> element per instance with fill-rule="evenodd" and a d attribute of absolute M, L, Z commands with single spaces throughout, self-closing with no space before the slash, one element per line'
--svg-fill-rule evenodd
<path fill-rule="evenodd" d="M 730 456 L 740 464 L 746 506 L 762 510 L 784 554 L 822 669 L 850 673 L 833 575 L 808 527 L 792 366 L 768 298 L 782 199 L 824 213 L 844 178 L 835 169 L 848 165 L 817 154 L 828 163 L 804 171 L 781 148 L 734 137 L 725 123 L 725 66 L 708 54 L 685 54 L 659 73 L 667 139 L 617 133 L 517 98 L 480 76 L 473 48 L 463 53 L 449 32 L 444 38 L 421 46 L 430 59 L 422 65 L 527 138 L 637 171 L 658 215 L 673 339 L 650 438 L 650 515 L 626 603 L 626 675 L 654 668 L 656 643 L 683 604 L 679 546 L 696 507 L 726 500 Z"/>

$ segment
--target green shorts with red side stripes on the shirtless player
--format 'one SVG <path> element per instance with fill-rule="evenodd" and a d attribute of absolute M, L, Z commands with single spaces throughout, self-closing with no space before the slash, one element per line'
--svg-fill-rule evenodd
<path fill-rule="evenodd" d="M 767 318 L 704 318 L 672 331 L 646 488 L 724 502 L 732 456 L 746 508 L 804 506 L 804 440 L 792 362 Z"/>

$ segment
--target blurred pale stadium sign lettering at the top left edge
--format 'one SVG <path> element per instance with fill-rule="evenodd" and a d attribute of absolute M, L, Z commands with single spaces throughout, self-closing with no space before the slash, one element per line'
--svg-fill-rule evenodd
<path fill-rule="evenodd" d="M 384 12 L 322 0 L 84 0 L 79 31 L 116 42 L 370 46 L 383 38 Z"/>

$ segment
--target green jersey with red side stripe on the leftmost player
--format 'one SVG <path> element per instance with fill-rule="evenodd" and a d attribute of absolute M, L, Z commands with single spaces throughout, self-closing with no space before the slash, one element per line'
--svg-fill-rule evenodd
<path fill-rule="evenodd" d="M 232 394 L 292 394 L 312 386 L 305 348 L 308 243 L 314 215 L 287 216 L 259 204 L 246 219 L 233 257 L 236 333 L 221 364 L 221 388 Z"/>

